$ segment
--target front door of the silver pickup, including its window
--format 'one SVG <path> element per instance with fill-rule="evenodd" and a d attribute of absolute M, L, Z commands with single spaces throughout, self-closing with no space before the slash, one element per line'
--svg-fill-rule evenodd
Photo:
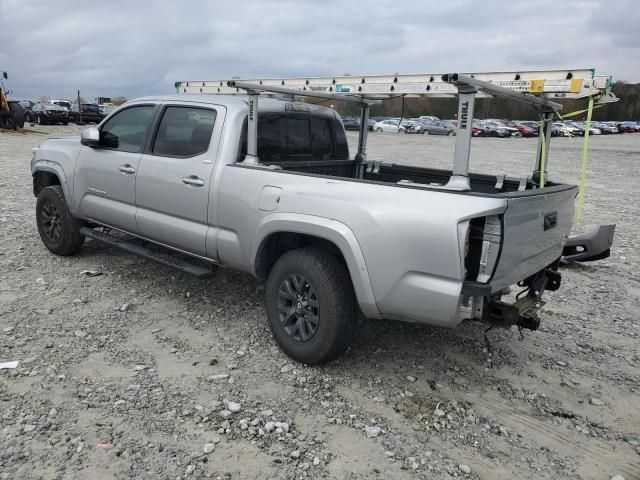
<path fill-rule="evenodd" d="M 135 105 L 100 128 L 100 144 L 78 155 L 74 196 L 83 218 L 131 233 L 136 226 L 136 173 L 156 105 Z"/>

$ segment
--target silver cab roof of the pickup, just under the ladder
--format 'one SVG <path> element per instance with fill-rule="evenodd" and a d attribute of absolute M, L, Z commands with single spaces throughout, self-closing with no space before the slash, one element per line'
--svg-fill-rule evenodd
<path fill-rule="evenodd" d="M 246 108 L 249 105 L 247 95 L 209 95 L 209 94 L 180 94 L 180 95 L 153 95 L 147 97 L 139 97 L 130 100 L 131 102 L 140 101 L 175 101 L 175 102 L 195 102 L 206 103 L 210 105 L 223 105 L 231 108 Z M 260 97 L 258 109 L 262 112 L 282 112 L 282 111 L 306 111 L 313 112 L 316 115 L 335 115 L 335 111 L 328 107 L 314 105 L 312 103 L 292 102 L 289 100 L 281 100 L 276 98 Z"/>

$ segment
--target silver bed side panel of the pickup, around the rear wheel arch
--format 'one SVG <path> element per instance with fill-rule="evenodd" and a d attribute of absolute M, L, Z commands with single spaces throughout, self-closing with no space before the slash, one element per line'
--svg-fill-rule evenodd
<path fill-rule="evenodd" d="M 457 224 L 502 213 L 504 199 L 227 165 L 221 172 L 218 254 L 251 271 L 262 241 L 264 186 L 282 188 L 277 212 L 326 218 L 355 235 L 381 316 L 455 321 L 463 281 Z M 343 252 L 344 254 L 344 252 Z M 351 272 L 354 278 L 354 272 Z"/>

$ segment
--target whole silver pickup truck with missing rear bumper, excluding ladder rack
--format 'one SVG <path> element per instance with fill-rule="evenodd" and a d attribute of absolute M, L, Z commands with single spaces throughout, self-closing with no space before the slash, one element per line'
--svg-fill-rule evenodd
<path fill-rule="evenodd" d="M 453 327 L 465 319 L 535 329 L 574 217 L 577 189 L 529 178 L 350 159 L 340 117 L 283 100 L 259 106 L 246 161 L 249 97 L 128 102 L 81 138 L 50 139 L 31 169 L 45 246 L 86 237 L 199 277 L 216 265 L 266 279 L 279 346 L 314 364 L 369 318 Z M 510 286 L 522 294 L 503 302 Z"/>

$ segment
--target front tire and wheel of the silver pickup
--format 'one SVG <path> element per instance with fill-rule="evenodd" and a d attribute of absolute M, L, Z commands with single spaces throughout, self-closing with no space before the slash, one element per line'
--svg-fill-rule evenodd
<path fill-rule="evenodd" d="M 85 237 L 80 234 L 83 223 L 71 216 L 60 185 L 51 185 L 40 191 L 36 203 L 36 224 L 42 243 L 56 255 L 73 255 L 84 243 Z"/>

